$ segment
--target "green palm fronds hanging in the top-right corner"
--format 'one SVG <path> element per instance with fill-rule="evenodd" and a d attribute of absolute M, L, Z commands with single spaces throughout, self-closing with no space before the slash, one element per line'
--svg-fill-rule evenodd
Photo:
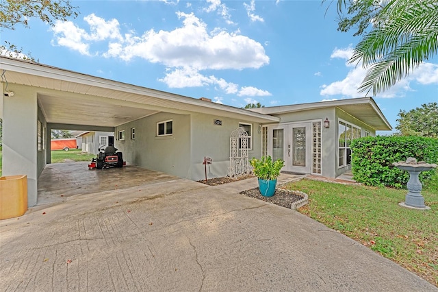
<path fill-rule="evenodd" d="M 350 58 L 369 69 L 359 92 L 387 90 L 437 51 L 438 2 L 389 1 Z"/>

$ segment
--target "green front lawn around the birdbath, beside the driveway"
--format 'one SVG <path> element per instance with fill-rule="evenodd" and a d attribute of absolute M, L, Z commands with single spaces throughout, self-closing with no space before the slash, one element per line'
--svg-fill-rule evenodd
<path fill-rule="evenodd" d="M 394 260 L 438 286 L 438 173 L 422 195 L 431 210 L 398 205 L 406 190 L 300 180 L 287 188 L 309 195 L 298 211 Z"/>

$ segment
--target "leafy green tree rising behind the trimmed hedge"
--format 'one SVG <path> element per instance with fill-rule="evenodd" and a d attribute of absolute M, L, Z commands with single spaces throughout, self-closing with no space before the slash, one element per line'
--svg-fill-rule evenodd
<path fill-rule="evenodd" d="M 405 112 L 400 110 L 396 125 L 397 134 L 401 136 L 423 136 L 438 138 L 438 104 L 422 104 Z"/>

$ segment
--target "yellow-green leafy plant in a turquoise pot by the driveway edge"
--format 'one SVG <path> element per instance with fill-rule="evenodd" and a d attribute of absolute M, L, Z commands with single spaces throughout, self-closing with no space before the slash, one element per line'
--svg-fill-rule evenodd
<path fill-rule="evenodd" d="M 272 197 L 275 193 L 276 178 L 280 175 L 285 162 L 281 159 L 272 161 L 271 156 L 262 156 L 260 159 L 251 159 L 253 173 L 259 179 L 259 191 L 265 197 Z"/>

